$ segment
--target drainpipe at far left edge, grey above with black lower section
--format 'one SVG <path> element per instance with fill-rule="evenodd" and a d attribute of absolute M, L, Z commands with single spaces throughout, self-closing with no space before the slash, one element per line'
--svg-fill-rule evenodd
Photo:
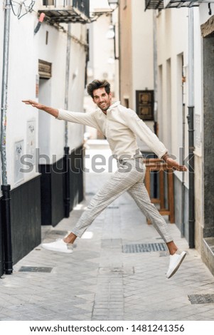
<path fill-rule="evenodd" d="M 7 112 L 7 92 L 8 92 L 8 70 L 9 70 L 9 34 L 11 4 L 10 0 L 5 1 L 4 9 L 4 55 L 3 55 L 3 73 L 1 88 L 1 166 L 2 166 L 2 219 L 4 231 L 4 272 L 11 274 L 13 272 L 12 262 L 12 243 L 11 243 L 11 205 L 10 190 L 11 186 L 7 184 L 6 174 L 6 112 Z"/>

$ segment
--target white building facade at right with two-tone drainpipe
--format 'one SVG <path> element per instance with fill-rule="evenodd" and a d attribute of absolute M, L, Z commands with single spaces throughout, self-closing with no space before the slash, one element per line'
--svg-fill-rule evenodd
<path fill-rule="evenodd" d="M 203 3 L 191 7 L 188 1 L 186 8 L 172 6 L 175 4 L 168 1 L 156 16 L 160 137 L 171 139 L 172 153 L 188 166 L 184 176 L 175 173 L 176 223 L 189 246 L 196 247 L 214 273 L 214 222 L 210 212 L 214 4 L 210 9 Z M 168 138 L 166 127 L 171 130 Z"/>

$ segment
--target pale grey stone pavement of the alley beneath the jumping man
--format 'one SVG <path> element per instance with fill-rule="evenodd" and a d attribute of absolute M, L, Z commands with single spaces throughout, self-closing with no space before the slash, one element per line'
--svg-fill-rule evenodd
<path fill-rule="evenodd" d="M 65 236 L 109 178 L 107 173 L 85 175 L 85 201 L 56 227 L 42 227 L 43 242 Z M 0 320 L 213 321 L 213 275 L 176 225 L 168 227 L 178 247 L 188 252 L 171 279 L 165 277 L 168 255 L 162 239 L 125 193 L 76 240 L 73 254 L 38 246 L 14 265 L 13 274 L 0 279 Z"/>

